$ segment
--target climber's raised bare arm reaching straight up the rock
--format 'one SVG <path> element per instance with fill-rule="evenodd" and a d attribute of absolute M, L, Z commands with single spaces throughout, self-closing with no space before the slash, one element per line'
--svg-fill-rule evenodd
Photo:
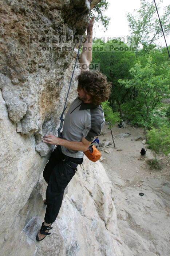
<path fill-rule="evenodd" d="M 90 24 L 87 27 L 86 42 L 83 45 L 83 50 L 80 57 L 80 64 L 81 64 L 81 70 L 82 70 L 81 72 L 89 70 L 89 65 L 92 60 L 92 38 L 93 38 L 94 19 L 95 17 L 90 19 Z"/>

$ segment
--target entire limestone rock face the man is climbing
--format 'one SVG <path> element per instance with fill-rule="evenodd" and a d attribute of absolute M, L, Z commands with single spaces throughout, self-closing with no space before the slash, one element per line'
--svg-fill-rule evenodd
<path fill-rule="evenodd" d="M 91 7 L 98 2 L 92 0 Z M 89 11 L 88 0 L 0 0 L 2 255 L 61 256 L 75 255 L 74 251 L 83 255 L 88 246 L 90 255 L 121 255 L 109 181 L 104 170 L 100 170 L 102 180 L 90 163 L 89 176 L 79 168 L 70 183 L 52 238 L 41 244 L 35 241 L 45 211 L 42 171 L 54 149 L 42 143 L 42 138 L 48 133 L 57 134 L 79 45 L 68 40 L 71 50 L 55 50 L 52 38 L 80 38 L 86 30 Z M 63 46 L 62 41 L 55 42 L 55 47 Z M 75 78 L 79 72 L 75 70 L 68 106 L 76 97 Z"/>

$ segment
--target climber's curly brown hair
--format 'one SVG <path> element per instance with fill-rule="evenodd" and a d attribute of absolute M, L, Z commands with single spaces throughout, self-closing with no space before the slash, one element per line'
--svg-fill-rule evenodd
<path fill-rule="evenodd" d="M 84 71 L 78 77 L 78 88 L 91 96 L 91 103 L 100 105 L 107 101 L 111 91 L 111 84 L 107 78 L 99 71 Z"/>

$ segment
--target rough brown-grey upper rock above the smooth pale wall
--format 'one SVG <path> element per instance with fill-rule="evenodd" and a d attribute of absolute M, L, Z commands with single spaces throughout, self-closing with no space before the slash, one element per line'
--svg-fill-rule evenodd
<path fill-rule="evenodd" d="M 61 41 L 60 51 L 54 50 L 52 38 L 84 33 L 90 4 L 8 0 L 1 1 L 0 11 L 2 95 L 17 132 L 34 134 L 39 143 L 44 132 L 55 132 L 69 84 L 69 80 L 64 84 L 65 76 L 75 60 L 74 51 L 62 51 Z M 48 40 L 40 44 L 47 35 Z M 75 46 L 68 41 L 67 47 Z"/>

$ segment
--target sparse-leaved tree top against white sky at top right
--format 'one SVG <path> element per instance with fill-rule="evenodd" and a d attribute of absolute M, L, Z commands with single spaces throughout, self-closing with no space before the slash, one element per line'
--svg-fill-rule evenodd
<path fill-rule="evenodd" d="M 137 50 L 140 45 L 145 52 L 152 50 L 155 47 L 155 41 L 163 36 L 153 1 L 141 0 L 140 9 L 134 10 L 133 14 L 128 13 L 127 20 L 131 35 L 135 37 L 134 44 L 137 46 Z M 164 14 L 161 17 L 165 35 L 170 33 L 169 20 L 170 5 L 164 8 Z"/>

